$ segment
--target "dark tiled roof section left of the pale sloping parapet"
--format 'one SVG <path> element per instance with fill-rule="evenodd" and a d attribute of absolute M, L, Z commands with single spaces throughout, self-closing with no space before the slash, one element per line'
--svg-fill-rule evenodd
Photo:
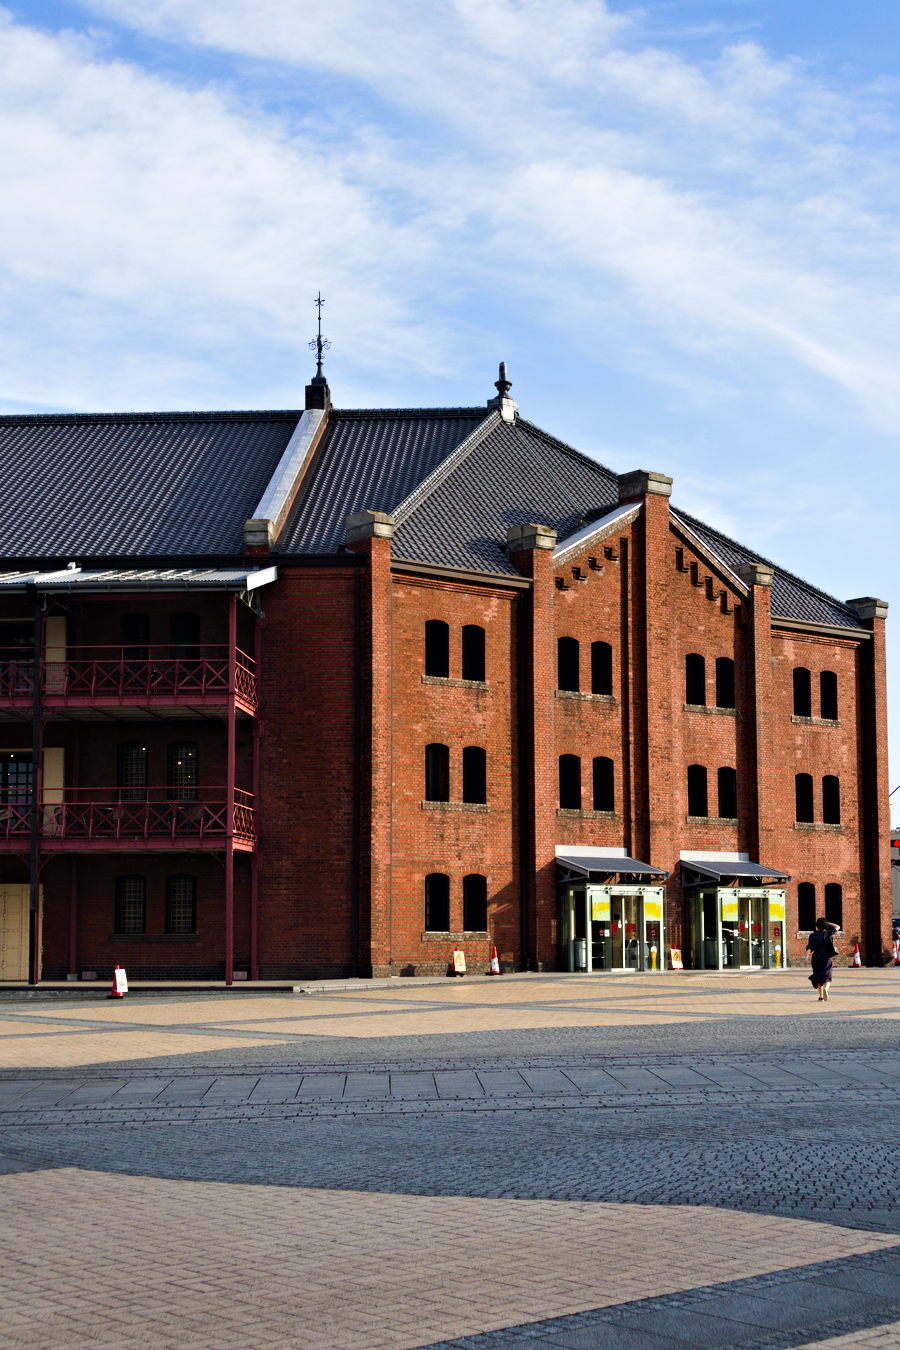
<path fill-rule="evenodd" d="M 0 417 L 0 556 L 240 554 L 298 417 Z"/>

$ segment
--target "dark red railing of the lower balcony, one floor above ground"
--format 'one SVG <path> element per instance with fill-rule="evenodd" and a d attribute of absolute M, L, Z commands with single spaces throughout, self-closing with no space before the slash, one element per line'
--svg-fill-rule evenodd
<path fill-rule="evenodd" d="M 224 787 L 93 787 L 66 794 L 62 802 L 45 802 L 39 810 L 39 836 L 46 844 L 85 842 L 93 846 L 140 841 L 161 844 L 171 840 L 185 848 L 224 845 L 228 836 L 228 802 Z M 31 805 L 0 802 L 0 842 L 27 844 L 31 830 Z M 235 788 L 232 837 L 236 844 L 251 846 L 256 841 L 254 799 Z"/>

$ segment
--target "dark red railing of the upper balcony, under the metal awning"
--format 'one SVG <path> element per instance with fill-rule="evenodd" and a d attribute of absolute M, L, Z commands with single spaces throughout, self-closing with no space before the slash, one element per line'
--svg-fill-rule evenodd
<path fill-rule="evenodd" d="M 49 705 L 225 702 L 229 693 L 227 645 L 69 647 L 61 660 L 45 660 L 40 693 Z M 256 666 L 235 651 L 233 687 L 239 702 L 258 706 Z M 22 648 L 0 648 L 0 703 L 22 703 L 34 693 L 34 663 Z"/>

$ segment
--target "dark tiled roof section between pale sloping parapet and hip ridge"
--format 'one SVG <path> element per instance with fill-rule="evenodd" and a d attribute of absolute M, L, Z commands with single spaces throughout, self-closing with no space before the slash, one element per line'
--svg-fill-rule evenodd
<path fill-rule="evenodd" d="M 278 552 L 337 552 L 348 516 L 393 512 L 486 417 L 484 408 L 333 410 Z"/>

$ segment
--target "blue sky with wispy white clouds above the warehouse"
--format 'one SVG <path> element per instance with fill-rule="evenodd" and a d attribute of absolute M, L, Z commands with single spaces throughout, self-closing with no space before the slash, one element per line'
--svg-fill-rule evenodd
<path fill-rule="evenodd" d="M 525 416 L 896 626 L 900 5 L 0 16 L 0 409 L 297 406 L 321 288 L 339 405 L 505 359 Z M 899 679 L 895 643 L 900 742 Z"/>

